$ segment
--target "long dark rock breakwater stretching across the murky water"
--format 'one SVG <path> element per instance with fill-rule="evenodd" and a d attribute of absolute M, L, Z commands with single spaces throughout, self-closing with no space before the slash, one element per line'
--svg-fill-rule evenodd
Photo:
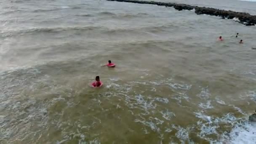
<path fill-rule="evenodd" d="M 155 2 L 155 1 L 140 1 L 140 0 L 108 0 L 108 1 L 162 5 L 165 7 L 173 7 L 179 11 L 195 9 L 196 14 L 207 14 L 207 15 L 211 15 L 211 16 L 220 16 L 222 19 L 238 18 L 239 21 L 237 21 L 237 22 L 244 24 L 246 26 L 256 25 L 256 16 L 250 15 L 249 13 L 225 11 L 225 10 L 220 10 L 220 9 L 216 9 L 216 8 L 199 7 L 199 6 L 179 4 L 179 3 L 162 3 L 162 2 Z"/>

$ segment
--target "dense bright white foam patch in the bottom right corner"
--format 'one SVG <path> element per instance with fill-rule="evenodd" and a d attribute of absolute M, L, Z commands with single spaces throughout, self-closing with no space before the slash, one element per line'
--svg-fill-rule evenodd
<path fill-rule="evenodd" d="M 237 109 L 237 111 L 239 111 Z M 256 123 L 249 123 L 248 115 L 237 118 L 231 113 L 224 114 L 222 117 L 213 117 L 201 112 L 194 112 L 196 117 L 200 118 L 197 127 L 200 133 L 197 134 L 202 139 L 209 141 L 211 144 L 255 144 L 256 143 Z M 243 112 L 242 112 L 243 113 Z M 232 131 L 217 131 L 220 125 L 233 127 Z M 220 141 L 213 140 L 211 135 L 220 137 Z"/>

